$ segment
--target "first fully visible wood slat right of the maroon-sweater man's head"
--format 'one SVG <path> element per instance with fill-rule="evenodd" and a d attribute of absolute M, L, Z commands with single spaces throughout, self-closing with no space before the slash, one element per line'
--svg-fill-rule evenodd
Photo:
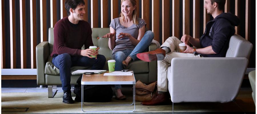
<path fill-rule="evenodd" d="M 91 27 L 98 28 L 98 1 L 91 0 Z"/>

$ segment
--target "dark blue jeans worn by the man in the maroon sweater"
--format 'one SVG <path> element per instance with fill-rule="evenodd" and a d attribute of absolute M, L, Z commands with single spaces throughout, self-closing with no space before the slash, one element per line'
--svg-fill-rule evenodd
<path fill-rule="evenodd" d="M 97 59 L 86 56 L 71 56 L 70 54 L 55 54 L 52 60 L 53 64 L 59 68 L 63 90 L 71 89 L 71 67 L 72 66 L 91 66 L 91 70 L 102 70 L 106 58 L 103 55 L 97 55 Z"/>

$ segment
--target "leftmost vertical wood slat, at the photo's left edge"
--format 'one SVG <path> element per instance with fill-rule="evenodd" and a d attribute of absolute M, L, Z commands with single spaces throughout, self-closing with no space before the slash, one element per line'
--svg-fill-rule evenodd
<path fill-rule="evenodd" d="M 6 60 L 6 58 L 5 58 L 5 49 L 3 49 L 3 48 L 5 48 L 5 0 L 2 0 L 1 1 L 1 5 L 0 5 L 0 7 L 1 7 L 1 10 L 2 10 L 2 12 L 1 12 L 1 29 L 2 29 L 2 31 L 1 31 L 1 57 L 2 57 L 2 59 L 1 59 L 1 68 L 6 68 L 5 67 L 5 60 Z"/>

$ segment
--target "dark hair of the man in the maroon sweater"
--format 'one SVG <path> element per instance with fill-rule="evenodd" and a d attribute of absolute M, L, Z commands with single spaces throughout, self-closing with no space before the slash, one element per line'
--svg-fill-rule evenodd
<path fill-rule="evenodd" d="M 65 9 L 67 10 L 68 15 L 71 15 L 70 9 L 75 10 L 78 5 L 85 5 L 84 0 L 65 0 Z"/>

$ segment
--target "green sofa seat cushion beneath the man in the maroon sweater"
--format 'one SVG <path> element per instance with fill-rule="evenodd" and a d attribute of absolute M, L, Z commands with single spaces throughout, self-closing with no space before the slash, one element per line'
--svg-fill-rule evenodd
<path fill-rule="evenodd" d="M 76 70 L 89 70 L 89 69 L 90 69 L 90 67 L 73 66 L 73 67 L 71 67 L 71 72 L 76 71 Z M 55 67 L 55 65 L 52 62 L 47 62 L 45 64 L 45 74 L 60 76 L 60 71 L 59 71 L 59 68 Z"/>

